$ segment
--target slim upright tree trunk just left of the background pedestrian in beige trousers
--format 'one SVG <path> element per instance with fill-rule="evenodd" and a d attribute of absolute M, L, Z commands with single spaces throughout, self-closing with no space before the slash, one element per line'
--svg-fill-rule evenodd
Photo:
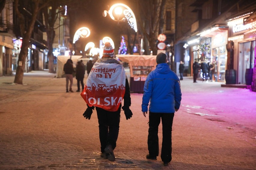
<path fill-rule="evenodd" d="M 53 56 L 53 41 L 55 37 L 55 31 L 53 29 L 47 31 L 47 45 L 48 45 L 48 54 L 49 58 L 49 73 L 54 73 L 54 56 Z"/>

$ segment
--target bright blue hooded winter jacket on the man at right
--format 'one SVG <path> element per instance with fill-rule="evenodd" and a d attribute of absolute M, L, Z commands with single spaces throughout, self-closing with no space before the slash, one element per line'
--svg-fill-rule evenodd
<path fill-rule="evenodd" d="M 181 86 L 178 76 L 167 63 L 157 64 L 144 84 L 142 112 L 174 113 L 181 104 Z"/>

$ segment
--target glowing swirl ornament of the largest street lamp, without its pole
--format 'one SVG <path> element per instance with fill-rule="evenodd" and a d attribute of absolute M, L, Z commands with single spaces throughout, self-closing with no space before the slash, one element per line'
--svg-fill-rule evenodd
<path fill-rule="evenodd" d="M 123 10 L 123 14 L 124 14 L 124 18 L 122 19 L 119 19 L 119 20 L 116 20 L 113 16 L 113 10 L 115 11 L 115 13 L 117 15 L 120 15 L 120 11 L 122 10 L 120 7 L 118 6 L 122 6 L 122 7 L 125 7 L 126 9 Z M 117 9 L 116 9 L 117 8 Z M 120 13 L 120 14 L 119 14 Z M 105 12 L 104 12 L 105 14 Z M 136 18 L 135 18 L 135 15 L 133 13 L 133 11 L 131 10 L 130 7 L 128 7 L 126 4 L 122 4 L 122 3 L 118 3 L 118 4 L 114 4 L 110 7 L 109 11 L 108 11 L 108 14 L 109 16 L 111 17 L 111 19 L 115 20 L 115 21 L 122 21 L 124 19 L 127 20 L 128 24 L 131 26 L 131 28 L 133 28 L 133 30 L 135 32 L 137 32 L 137 22 L 136 22 Z"/>

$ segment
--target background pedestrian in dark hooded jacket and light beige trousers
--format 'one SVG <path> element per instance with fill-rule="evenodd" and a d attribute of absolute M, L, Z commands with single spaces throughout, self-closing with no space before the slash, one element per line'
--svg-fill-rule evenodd
<path fill-rule="evenodd" d="M 73 72 L 75 72 L 73 67 L 73 61 L 71 59 L 68 59 L 67 62 L 64 64 L 63 71 L 66 75 L 66 92 L 73 92 L 72 85 L 73 85 Z M 70 85 L 69 85 L 70 81 Z"/>

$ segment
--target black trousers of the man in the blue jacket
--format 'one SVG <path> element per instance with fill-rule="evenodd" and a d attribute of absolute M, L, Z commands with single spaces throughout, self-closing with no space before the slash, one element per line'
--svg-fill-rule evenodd
<path fill-rule="evenodd" d="M 172 160 L 172 122 L 174 113 L 152 113 L 149 112 L 148 128 L 148 152 L 155 157 L 159 154 L 158 144 L 158 126 L 162 119 L 163 142 L 161 150 L 161 159 L 163 162 Z"/>

